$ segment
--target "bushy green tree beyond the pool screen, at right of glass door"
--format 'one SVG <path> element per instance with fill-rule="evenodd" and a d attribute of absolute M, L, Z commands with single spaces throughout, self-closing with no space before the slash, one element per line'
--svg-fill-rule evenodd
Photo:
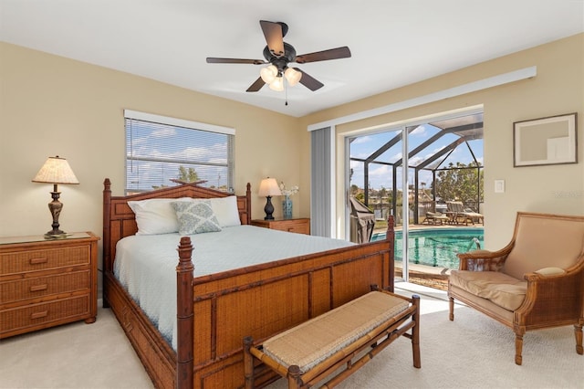
<path fill-rule="evenodd" d="M 483 201 L 483 170 L 477 163 L 449 163 L 447 168 L 436 174 L 436 198 L 443 201 L 464 202 Z M 477 198 L 478 195 L 478 198 Z"/>

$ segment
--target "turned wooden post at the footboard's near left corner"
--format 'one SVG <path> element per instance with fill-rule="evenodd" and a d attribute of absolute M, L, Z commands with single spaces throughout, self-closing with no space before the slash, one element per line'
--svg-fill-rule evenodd
<path fill-rule="evenodd" d="M 194 314 L 193 314 L 193 245 L 190 237 L 181 237 L 176 267 L 177 366 L 176 388 L 193 388 Z"/>

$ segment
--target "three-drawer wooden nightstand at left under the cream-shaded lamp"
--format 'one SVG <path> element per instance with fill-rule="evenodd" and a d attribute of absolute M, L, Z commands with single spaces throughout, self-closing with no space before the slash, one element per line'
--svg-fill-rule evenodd
<path fill-rule="evenodd" d="M 98 240 L 0 237 L 0 339 L 70 321 L 96 321 Z"/>

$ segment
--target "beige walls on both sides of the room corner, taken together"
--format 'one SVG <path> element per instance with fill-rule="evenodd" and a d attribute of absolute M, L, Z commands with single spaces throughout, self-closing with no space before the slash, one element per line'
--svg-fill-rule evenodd
<path fill-rule="evenodd" d="M 114 195 L 122 194 L 124 109 L 234 127 L 236 192 L 242 193 L 247 182 L 256 188 L 262 177 L 275 176 L 300 186 L 300 194 L 294 197 L 295 215 L 309 216 L 309 124 L 531 66 L 537 66 L 534 79 L 339 126 L 338 144 L 342 145 L 344 131 L 482 104 L 486 246 L 506 243 L 518 210 L 584 214 L 584 34 L 301 119 L 24 47 L 0 43 L 0 58 L 2 236 L 42 234 L 50 229 L 51 186 L 30 180 L 55 154 L 68 159 L 81 183 L 60 186 L 65 204 L 61 226 L 100 235 L 103 178 L 110 177 Z M 579 113 L 578 164 L 513 167 L 514 121 L 574 111 Z M 342 155 L 338 155 L 339 188 L 344 185 L 342 166 Z M 495 179 L 506 181 L 504 194 L 495 194 Z M 254 201 L 253 216 L 262 217 L 265 200 L 255 195 Z M 338 191 L 341 201 L 342 189 Z M 276 205 L 278 213 L 281 207 Z M 338 219 L 342 217 L 340 207 Z"/>

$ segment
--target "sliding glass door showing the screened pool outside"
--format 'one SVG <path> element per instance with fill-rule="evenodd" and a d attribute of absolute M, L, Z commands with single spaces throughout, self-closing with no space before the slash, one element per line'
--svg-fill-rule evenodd
<path fill-rule="evenodd" d="M 455 200 L 475 214 L 482 212 L 482 112 L 364 131 L 346 142 L 348 235 L 357 242 L 381 239 L 388 216 L 393 216 L 397 277 L 408 280 L 412 272 L 422 278 L 426 272 L 444 273 L 444 268 L 457 267 L 458 252 L 480 245 L 479 217 L 463 224 L 449 213 L 447 203 Z M 450 242 L 456 238 L 435 238 L 445 236 L 446 228 L 457 235 L 463 227 L 462 240 L 455 247 Z"/>

